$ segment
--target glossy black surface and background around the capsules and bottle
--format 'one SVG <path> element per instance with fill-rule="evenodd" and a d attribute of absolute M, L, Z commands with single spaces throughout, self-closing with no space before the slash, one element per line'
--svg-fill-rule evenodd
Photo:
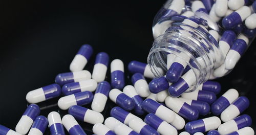
<path fill-rule="evenodd" d="M 4 3 L 3 3 L 4 2 Z M 97 53 L 104 51 L 110 60 L 123 60 L 125 68 L 132 60 L 146 62 L 152 46 L 152 22 L 164 1 L 2 1 L 0 3 L 0 124 L 15 129 L 27 107 L 26 94 L 54 83 L 58 73 L 69 72 L 69 64 L 83 43 L 94 49 L 86 70 L 92 72 Z M 243 114 L 253 119 L 256 107 L 255 41 L 236 68 L 218 79 L 222 93 L 237 88 L 250 99 Z M 127 69 L 125 69 L 127 70 Z M 109 72 L 108 78 L 109 81 Z M 127 72 L 126 72 L 127 73 Z M 127 74 L 126 74 L 127 76 Z M 126 84 L 131 84 L 126 79 Z M 220 96 L 221 94 L 219 94 Z M 55 110 L 58 99 L 39 103 L 41 115 Z M 109 117 L 115 106 L 108 102 L 103 115 Z M 90 107 L 90 105 L 88 106 Z M 88 134 L 92 125 L 80 122 Z M 47 129 L 45 134 L 49 134 Z"/>

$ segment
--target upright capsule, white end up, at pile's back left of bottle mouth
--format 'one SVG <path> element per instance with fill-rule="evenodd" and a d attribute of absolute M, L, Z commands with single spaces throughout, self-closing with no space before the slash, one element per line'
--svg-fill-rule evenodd
<path fill-rule="evenodd" d="M 122 89 L 124 87 L 124 67 L 120 59 L 114 59 L 110 64 L 111 86 Z"/>

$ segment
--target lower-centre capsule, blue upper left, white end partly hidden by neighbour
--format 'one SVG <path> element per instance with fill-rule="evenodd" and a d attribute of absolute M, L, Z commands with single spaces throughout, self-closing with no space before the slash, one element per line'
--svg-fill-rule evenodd
<path fill-rule="evenodd" d="M 110 116 L 116 118 L 118 121 L 124 123 L 125 125 L 128 125 L 131 119 L 138 118 L 137 116 L 118 106 L 111 109 Z"/>

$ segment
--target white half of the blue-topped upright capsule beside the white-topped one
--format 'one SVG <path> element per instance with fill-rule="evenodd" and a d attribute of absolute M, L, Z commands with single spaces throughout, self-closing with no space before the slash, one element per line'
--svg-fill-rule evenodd
<path fill-rule="evenodd" d="M 97 82 L 102 82 L 105 80 L 106 77 L 106 71 L 108 70 L 108 67 L 102 63 L 97 63 L 93 67 L 93 75 L 92 78 L 96 80 Z"/>

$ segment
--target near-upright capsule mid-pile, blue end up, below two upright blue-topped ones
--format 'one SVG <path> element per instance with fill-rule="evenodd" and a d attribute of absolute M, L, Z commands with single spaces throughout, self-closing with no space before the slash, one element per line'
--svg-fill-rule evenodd
<path fill-rule="evenodd" d="M 110 84 L 106 81 L 100 82 L 94 94 L 92 110 L 99 113 L 104 110 L 110 93 Z"/>

